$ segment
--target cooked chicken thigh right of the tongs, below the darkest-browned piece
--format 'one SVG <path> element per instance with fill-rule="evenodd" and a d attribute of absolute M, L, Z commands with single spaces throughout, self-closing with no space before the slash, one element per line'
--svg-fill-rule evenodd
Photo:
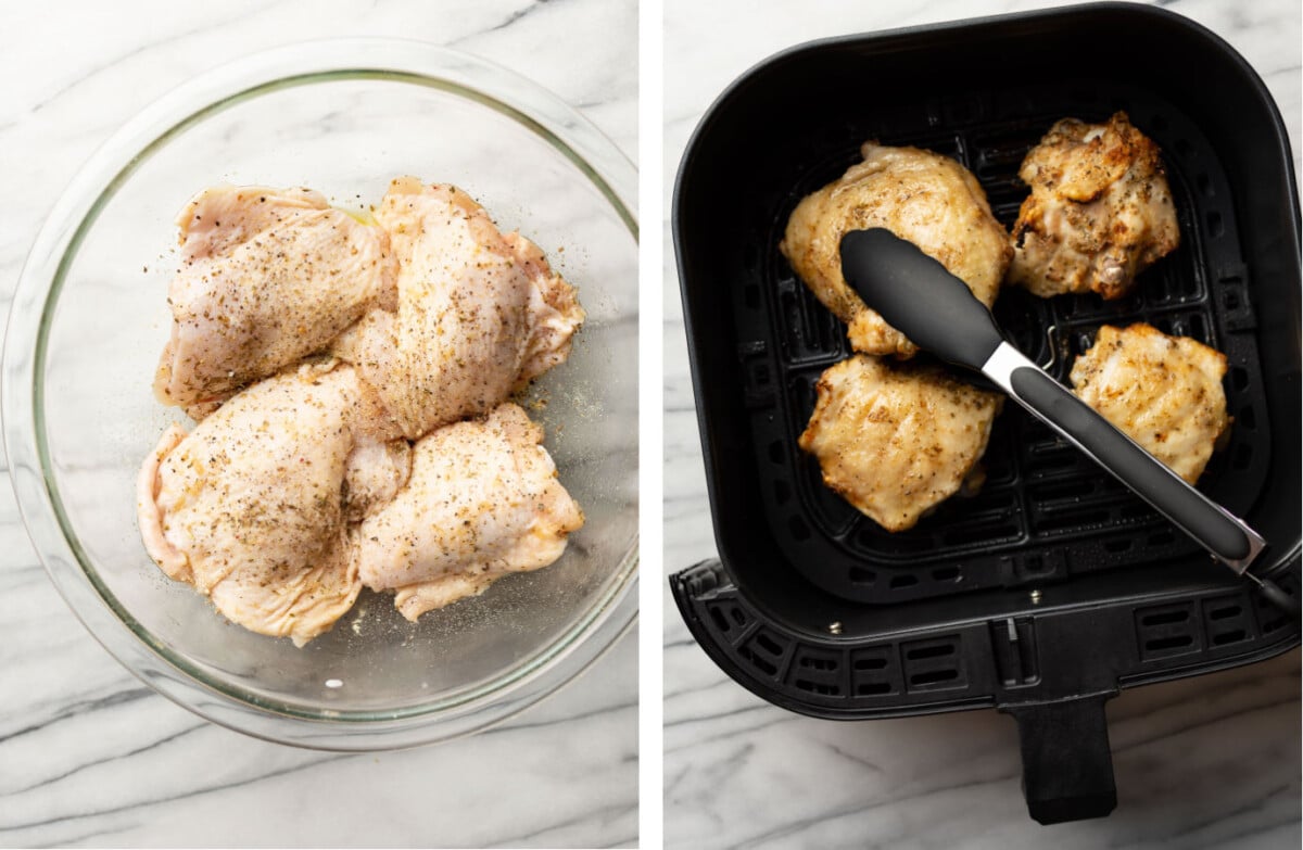
<path fill-rule="evenodd" d="M 1194 484 L 1230 426 L 1226 357 L 1149 325 L 1105 325 L 1072 364 L 1078 398 Z"/>

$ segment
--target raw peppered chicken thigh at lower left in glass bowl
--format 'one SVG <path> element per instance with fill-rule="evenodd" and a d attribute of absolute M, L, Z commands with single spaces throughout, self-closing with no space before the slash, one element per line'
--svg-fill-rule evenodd
<path fill-rule="evenodd" d="M 137 484 L 145 546 L 228 619 L 302 645 L 357 598 L 345 514 L 367 506 L 343 490 L 348 481 L 369 502 L 392 498 L 408 471 L 396 435 L 347 365 L 261 381 L 189 435 L 173 425 L 146 459 Z M 367 463 L 377 456 L 379 475 Z"/>

